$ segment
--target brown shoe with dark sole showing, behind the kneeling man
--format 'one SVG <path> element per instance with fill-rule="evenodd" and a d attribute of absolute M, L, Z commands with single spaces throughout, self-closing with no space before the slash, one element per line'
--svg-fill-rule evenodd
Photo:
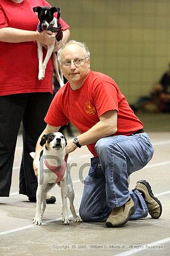
<path fill-rule="evenodd" d="M 135 186 L 142 193 L 148 212 L 152 218 L 159 218 L 162 214 L 162 204 L 152 193 L 150 184 L 146 180 L 139 180 Z"/>

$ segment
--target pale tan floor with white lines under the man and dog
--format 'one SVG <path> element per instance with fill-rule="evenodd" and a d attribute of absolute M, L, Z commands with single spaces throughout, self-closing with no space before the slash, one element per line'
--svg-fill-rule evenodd
<path fill-rule="evenodd" d="M 18 195 L 19 164 L 22 138 L 16 147 L 10 197 L 0 198 L 0 255 L 170 255 L 170 133 L 150 133 L 155 146 L 154 158 L 130 177 L 130 188 L 135 181 L 146 179 L 163 205 L 159 220 L 150 216 L 129 221 L 123 228 L 106 228 L 104 223 L 74 223 L 65 226 L 61 221 L 61 196 L 54 187 L 57 203 L 47 205 L 41 226 L 32 224 L 35 203 Z M 78 212 L 83 182 L 91 154 L 82 147 L 70 154 L 70 162 L 78 166 L 71 170 L 74 183 L 75 208 Z M 83 171 L 79 171 L 82 164 Z"/>

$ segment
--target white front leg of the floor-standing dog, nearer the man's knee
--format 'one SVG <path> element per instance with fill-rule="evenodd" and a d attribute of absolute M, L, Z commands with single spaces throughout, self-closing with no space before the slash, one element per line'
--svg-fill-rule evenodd
<path fill-rule="evenodd" d="M 60 182 L 61 185 L 61 198 L 62 198 L 62 222 L 63 224 L 69 225 L 70 219 L 67 209 L 67 185 L 66 179 Z"/>

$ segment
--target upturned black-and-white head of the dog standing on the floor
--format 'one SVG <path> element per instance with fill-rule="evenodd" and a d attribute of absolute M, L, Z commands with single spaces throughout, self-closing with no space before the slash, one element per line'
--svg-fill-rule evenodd
<path fill-rule="evenodd" d="M 41 138 L 40 145 L 43 146 L 45 144 L 46 150 L 61 150 L 66 144 L 66 138 L 62 133 L 49 133 L 44 134 Z"/>

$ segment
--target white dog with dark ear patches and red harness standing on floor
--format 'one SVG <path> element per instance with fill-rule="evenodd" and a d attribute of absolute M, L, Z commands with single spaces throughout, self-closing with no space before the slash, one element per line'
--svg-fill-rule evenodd
<path fill-rule="evenodd" d="M 46 207 L 46 193 L 57 183 L 61 187 L 62 197 L 62 222 L 69 225 L 69 215 L 67 210 L 67 197 L 70 200 L 70 210 L 76 222 L 82 222 L 76 214 L 73 205 L 74 190 L 69 171 L 66 171 L 65 146 L 66 138 L 62 133 L 50 133 L 43 135 L 40 142 L 43 146 L 40 152 L 38 163 L 38 188 L 36 193 L 36 214 L 33 223 L 41 225 L 42 216 Z M 31 152 L 32 158 L 35 152 Z"/>

